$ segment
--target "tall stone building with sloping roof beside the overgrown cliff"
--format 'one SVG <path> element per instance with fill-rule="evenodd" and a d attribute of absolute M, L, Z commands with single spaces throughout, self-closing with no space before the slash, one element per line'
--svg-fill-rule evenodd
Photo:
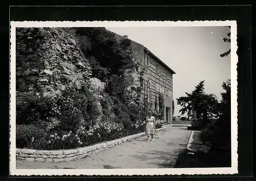
<path fill-rule="evenodd" d="M 121 41 L 128 38 L 116 33 L 115 38 Z M 142 44 L 131 40 L 133 56 L 143 66 L 139 72 L 140 94 L 139 99 L 146 98 L 150 109 L 159 110 L 159 95 L 163 96 L 164 120 L 172 123 L 173 120 L 173 75 L 176 74 L 168 65 L 161 61 Z"/>

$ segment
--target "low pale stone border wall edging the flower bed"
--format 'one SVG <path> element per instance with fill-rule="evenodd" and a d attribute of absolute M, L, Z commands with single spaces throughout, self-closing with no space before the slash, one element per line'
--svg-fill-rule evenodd
<path fill-rule="evenodd" d="M 164 127 L 157 130 L 159 131 L 162 129 L 164 129 Z M 144 135 L 144 132 L 88 147 L 68 150 L 32 150 L 16 148 L 16 159 L 35 162 L 68 162 L 93 155 L 116 145 L 120 145 L 127 141 L 142 137 L 142 135 Z"/>

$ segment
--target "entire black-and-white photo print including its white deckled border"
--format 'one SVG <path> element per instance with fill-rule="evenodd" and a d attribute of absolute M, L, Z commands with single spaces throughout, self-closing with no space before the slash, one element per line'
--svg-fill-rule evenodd
<path fill-rule="evenodd" d="M 236 33 L 11 22 L 11 174 L 238 173 Z"/>

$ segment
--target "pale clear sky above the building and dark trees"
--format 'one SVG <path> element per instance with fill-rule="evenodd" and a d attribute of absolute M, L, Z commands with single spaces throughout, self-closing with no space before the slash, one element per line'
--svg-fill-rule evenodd
<path fill-rule="evenodd" d="M 230 55 L 220 57 L 230 49 L 224 42 L 228 27 L 106 27 L 119 35 L 143 44 L 174 72 L 174 116 L 180 116 L 176 99 L 186 96 L 202 80 L 205 92 L 221 100 L 222 83 L 230 79 Z"/>

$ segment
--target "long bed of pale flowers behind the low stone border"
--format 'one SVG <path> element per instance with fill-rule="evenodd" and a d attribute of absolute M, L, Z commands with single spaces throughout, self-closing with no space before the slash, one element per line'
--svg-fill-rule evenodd
<path fill-rule="evenodd" d="M 161 128 L 162 125 L 162 120 L 156 120 L 157 129 Z M 125 130 L 122 124 L 104 122 L 96 124 L 88 130 L 85 127 L 80 127 L 76 133 L 70 131 L 67 134 L 54 133 L 50 135 L 44 135 L 39 130 L 34 130 L 30 125 L 26 127 L 31 127 L 30 132 L 24 128 L 20 129 L 22 127 L 26 127 L 26 125 L 17 125 L 17 148 L 22 148 L 19 147 L 19 143 L 23 142 L 22 145 L 27 145 L 26 148 L 28 149 L 57 150 L 90 146 L 96 143 L 119 139 L 134 133 L 140 133 L 144 131 L 145 121 L 137 121 L 132 124 L 129 128 L 130 131 Z M 22 130 L 30 134 L 25 134 Z M 33 132 L 33 130 L 35 132 Z"/>

